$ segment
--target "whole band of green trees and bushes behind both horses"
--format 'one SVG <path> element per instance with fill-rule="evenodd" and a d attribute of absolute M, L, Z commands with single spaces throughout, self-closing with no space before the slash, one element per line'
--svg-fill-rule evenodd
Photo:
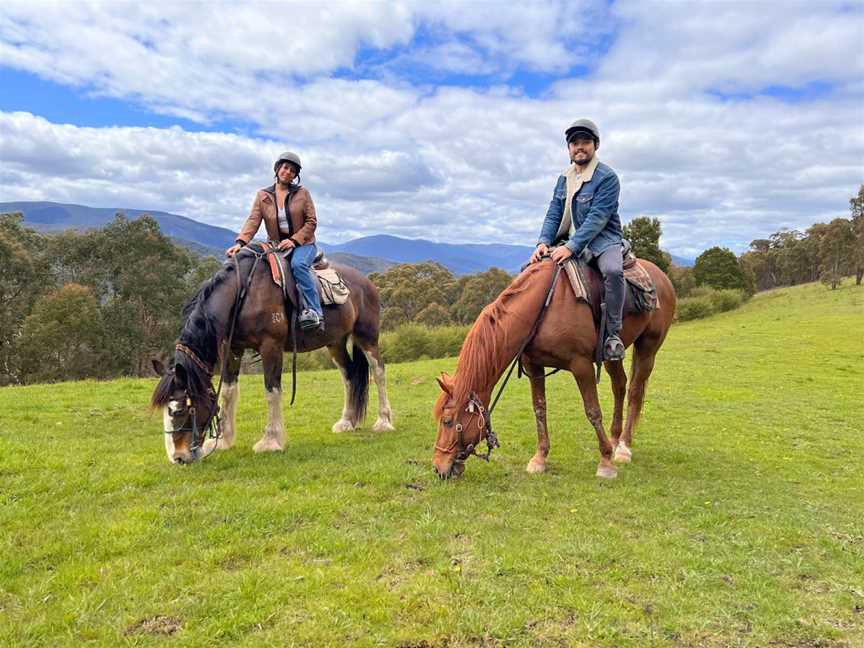
<path fill-rule="evenodd" d="M 757 290 L 817 280 L 836 288 L 850 274 L 860 285 L 864 185 L 850 211 L 848 219 L 755 240 L 740 257 L 712 247 L 692 268 L 660 249 L 658 219 L 636 218 L 624 229 L 636 254 L 669 275 L 679 316 L 690 319 L 734 308 Z M 24 226 L 21 214 L 0 214 L 0 385 L 147 375 L 150 358 L 171 354 L 183 305 L 220 265 L 174 244 L 149 216 L 118 214 L 100 230 L 46 234 Z M 369 278 L 381 295 L 390 361 L 452 351 L 512 280 L 498 268 L 456 277 L 432 261 Z M 418 332 L 434 328 L 441 340 L 421 340 Z M 310 368 L 327 362 L 322 355 Z"/>

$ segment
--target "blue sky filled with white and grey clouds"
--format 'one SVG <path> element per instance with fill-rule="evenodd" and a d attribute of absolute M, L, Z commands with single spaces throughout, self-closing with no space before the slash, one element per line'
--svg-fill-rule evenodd
<path fill-rule="evenodd" d="M 0 4 L 0 202 L 533 245 L 579 117 L 674 254 L 848 217 L 864 1 Z"/>

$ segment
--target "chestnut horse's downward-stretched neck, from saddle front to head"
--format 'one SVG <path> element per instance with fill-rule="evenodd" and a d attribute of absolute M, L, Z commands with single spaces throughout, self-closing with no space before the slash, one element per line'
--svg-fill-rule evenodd
<path fill-rule="evenodd" d="M 480 313 L 459 354 L 453 392 L 458 401 L 473 391 L 488 406 L 492 389 L 540 315 L 551 282 L 551 270 L 546 270 L 520 275 Z"/>

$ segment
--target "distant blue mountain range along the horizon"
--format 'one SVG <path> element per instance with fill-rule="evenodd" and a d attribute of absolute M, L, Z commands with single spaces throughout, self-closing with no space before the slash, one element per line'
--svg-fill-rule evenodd
<path fill-rule="evenodd" d="M 117 213 L 133 219 L 149 214 L 159 223 L 162 232 L 177 243 L 199 253 L 217 256 L 221 256 L 231 246 L 236 236 L 236 232 L 224 227 L 154 210 L 86 207 L 44 201 L 0 202 L 0 213 L 8 212 L 21 212 L 24 224 L 29 227 L 54 232 L 104 227 Z M 397 263 L 437 261 L 456 275 L 483 272 L 491 267 L 515 274 L 533 250 L 529 245 L 435 243 L 385 234 L 364 236 L 337 244 L 319 240 L 318 245 L 332 260 L 365 273 L 386 270 Z M 674 255 L 672 260 L 677 265 L 693 265 L 691 260 Z"/>

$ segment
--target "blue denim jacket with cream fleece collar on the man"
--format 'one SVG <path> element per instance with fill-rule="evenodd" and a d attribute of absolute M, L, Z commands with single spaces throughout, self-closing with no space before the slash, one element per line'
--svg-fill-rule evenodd
<path fill-rule="evenodd" d="M 618 195 L 621 185 L 618 176 L 607 165 L 598 162 L 594 173 L 587 178 L 571 205 L 573 215 L 573 235 L 566 245 L 577 256 L 598 256 L 606 248 L 621 243 L 624 233 L 618 216 Z M 552 201 L 546 211 L 543 228 L 538 243 L 553 245 L 565 240 L 569 232 L 559 233 L 564 216 L 564 203 L 567 196 L 567 178 L 562 174 L 555 185 Z M 584 254 L 588 249 L 590 255 Z"/>

